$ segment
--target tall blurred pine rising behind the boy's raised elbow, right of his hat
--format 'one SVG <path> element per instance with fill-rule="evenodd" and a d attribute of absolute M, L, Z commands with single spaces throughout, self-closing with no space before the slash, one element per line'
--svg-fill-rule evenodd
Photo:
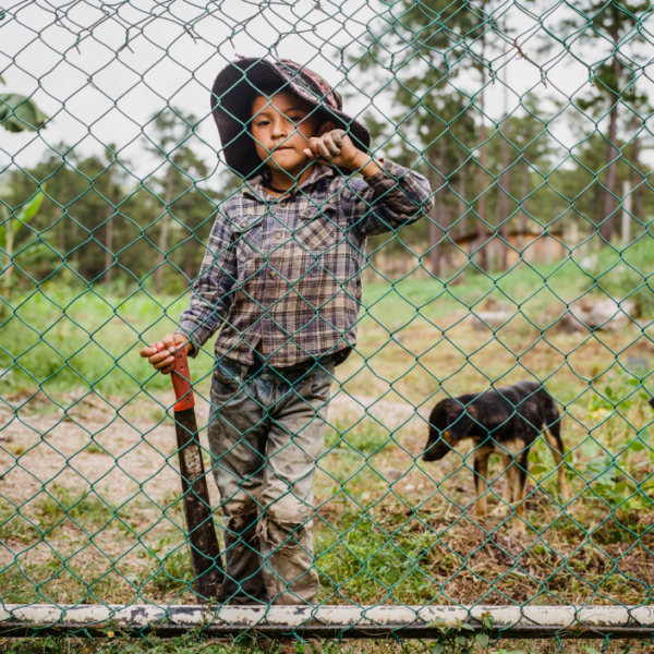
<path fill-rule="evenodd" d="M 463 161 L 470 159 L 472 148 L 461 144 L 470 143 L 475 131 L 468 111 L 470 99 L 457 88 L 456 77 L 469 60 L 469 41 L 483 22 L 465 0 L 402 0 L 383 15 L 380 28 L 371 29 L 367 53 L 356 59 L 366 71 L 391 55 L 395 74 L 386 93 L 392 94 L 393 107 L 402 108 L 393 117 L 402 129 L 401 138 L 395 141 L 404 154 L 422 152 L 421 170 L 436 192 L 428 229 L 429 268 L 435 277 L 441 275 L 440 243 L 449 228 L 446 193 L 452 171 L 446 170 L 447 162 L 459 159 L 461 147 L 467 150 Z M 459 143 L 451 138 L 455 132 Z"/>

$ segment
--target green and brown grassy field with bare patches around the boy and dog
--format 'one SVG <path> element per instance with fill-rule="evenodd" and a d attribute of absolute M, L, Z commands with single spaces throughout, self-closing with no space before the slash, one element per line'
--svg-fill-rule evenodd
<path fill-rule="evenodd" d="M 566 303 L 589 291 L 598 299 L 619 289 L 619 296 L 647 298 L 651 291 L 638 279 L 625 281 L 629 271 L 610 277 L 610 254 L 598 262 L 608 271 L 593 275 L 604 278 L 605 290 L 572 262 L 523 265 L 495 280 L 471 274 L 446 286 L 407 279 L 366 287 L 360 344 L 337 370 L 328 449 L 315 484 L 322 602 L 650 602 L 654 450 L 645 389 L 654 387 L 646 378 L 652 306 L 641 301 L 640 323 L 616 332 L 566 334 L 555 324 Z M 143 342 L 173 328 L 184 302 L 145 291 L 116 298 L 46 288 L 14 299 L 13 313 L 4 306 L 5 603 L 193 602 L 167 416 L 170 380 L 152 375 L 137 355 Z M 471 310 L 497 307 L 516 316 L 495 334 L 473 328 Z M 644 370 L 633 362 L 645 362 Z M 211 359 L 201 354 L 192 366 L 198 415 L 206 416 L 202 399 Z M 553 457 L 536 443 L 529 529 L 518 533 L 511 510 L 508 517 L 499 510 L 500 476 L 489 491 L 492 512 L 483 519 L 472 512 L 472 460 L 464 447 L 438 463 L 419 457 L 428 412 L 446 392 L 534 378 L 565 411 L 573 497 L 560 502 Z M 352 646 L 383 652 L 390 645 Z M 189 651 L 220 651 L 197 647 L 204 649 Z"/>

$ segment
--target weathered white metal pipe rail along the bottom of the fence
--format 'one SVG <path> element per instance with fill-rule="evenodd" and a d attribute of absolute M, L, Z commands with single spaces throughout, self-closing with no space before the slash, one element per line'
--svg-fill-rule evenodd
<path fill-rule="evenodd" d="M 134 637 L 172 637 L 196 630 L 211 635 L 256 632 L 262 635 L 296 633 L 301 638 L 425 638 L 444 633 L 486 634 L 493 638 L 647 639 L 652 609 L 647 606 L 198 606 L 155 607 L 108 605 L 7 606 L 2 630 L 13 638 L 47 632 L 88 632 L 109 629 Z"/>

